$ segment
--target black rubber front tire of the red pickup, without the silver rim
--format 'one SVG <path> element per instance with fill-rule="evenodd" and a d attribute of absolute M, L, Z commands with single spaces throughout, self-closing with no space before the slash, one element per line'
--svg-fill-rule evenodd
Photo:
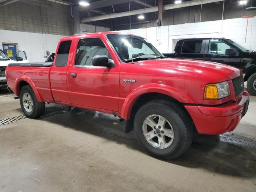
<path fill-rule="evenodd" d="M 152 146 L 144 137 L 143 123 L 150 115 L 160 115 L 172 125 L 174 139 L 170 146 L 164 149 Z M 174 159 L 181 156 L 190 146 L 193 136 L 193 126 L 184 110 L 175 103 L 164 100 L 154 100 L 144 104 L 134 118 L 134 132 L 139 144 L 148 154 L 162 159 Z"/>

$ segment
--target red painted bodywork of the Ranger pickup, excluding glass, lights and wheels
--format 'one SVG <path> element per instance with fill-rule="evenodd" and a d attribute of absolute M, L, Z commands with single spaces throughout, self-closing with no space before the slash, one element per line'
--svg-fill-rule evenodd
<path fill-rule="evenodd" d="M 246 91 L 238 98 L 234 95 L 231 80 L 241 75 L 239 69 L 185 59 L 122 63 L 106 34 L 112 32 L 62 38 L 60 42 L 72 40 L 66 67 L 56 67 L 55 63 L 52 67 L 7 67 L 10 89 L 18 96 L 19 83 L 26 81 L 40 102 L 57 102 L 119 114 L 126 120 L 130 118 L 132 106 L 141 95 L 156 92 L 184 103 L 201 134 L 221 134 L 237 126 L 244 103 L 248 100 Z M 115 62 L 114 68 L 74 67 L 78 40 L 87 37 L 102 39 Z M 72 77 L 70 73 L 76 73 L 77 76 Z M 124 82 L 124 79 L 134 79 L 136 82 Z M 223 81 L 229 83 L 230 96 L 219 100 L 204 100 L 206 84 Z"/>

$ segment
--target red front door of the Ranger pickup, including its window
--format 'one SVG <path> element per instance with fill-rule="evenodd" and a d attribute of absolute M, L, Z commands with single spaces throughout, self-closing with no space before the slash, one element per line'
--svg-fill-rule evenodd
<path fill-rule="evenodd" d="M 100 38 L 80 38 L 74 64 L 68 68 L 68 96 L 74 105 L 118 112 L 120 66 L 92 66 L 92 58 L 112 59 Z"/>

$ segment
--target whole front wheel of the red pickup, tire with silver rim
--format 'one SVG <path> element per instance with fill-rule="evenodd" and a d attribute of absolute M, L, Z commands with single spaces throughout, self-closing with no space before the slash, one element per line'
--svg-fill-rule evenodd
<path fill-rule="evenodd" d="M 160 123 L 159 117 L 161 122 L 164 119 L 166 122 L 161 128 L 152 128 L 152 125 L 149 126 L 147 124 L 147 118 L 150 118 L 150 120 L 152 118 L 156 126 L 158 126 Z M 151 128 L 156 135 L 154 138 L 152 138 L 153 132 L 150 132 Z M 160 136 L 158 129 L 161 131 Z M 162 131 L 165 131 L 165 133 Z M 192 142 L 193 127 L 190 118 L 180 106 L 164 100 L 154 100 L 144 104 L 136 113 L 134 118 L 134 132 L 139 144 L 145 148 L 148 154 L 157 158 L 170 160 L 178 158 L 188 149 Z M 148 135 L 144 136 L 146 132 L 150 133 L 149 137 Z M 151 138 L 149 139 L 150 142 L 148 142 L 146 137 L 148 139 Z M 163 145 L 164 142 L 160 142 L 159 144 L 159 141 L 162 141 L 163 138 L 165 144 Z"/>

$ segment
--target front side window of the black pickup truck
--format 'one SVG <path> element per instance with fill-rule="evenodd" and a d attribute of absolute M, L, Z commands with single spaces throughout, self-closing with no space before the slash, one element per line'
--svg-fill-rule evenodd
<path fill-rule="evenodd" d="M 220 40 L 210 40 L 208 53 L 226 55 L 227 49 L 233 49 L 233 48 Z M 235 49 L 233 50 L 234 52 L 237 52 Z"/>

